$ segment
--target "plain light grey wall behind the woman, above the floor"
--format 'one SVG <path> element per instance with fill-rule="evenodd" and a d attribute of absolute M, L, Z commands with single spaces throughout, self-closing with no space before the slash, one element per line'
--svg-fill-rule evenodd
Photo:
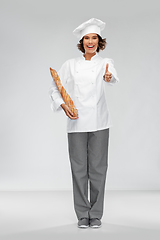
<path fill-rule="evenodd" d="M 50 109 L 49 67 L 81 56 L 72 35 L 95 17 L 120 83 L 106 90 L 106 189 L 160 189 L 159 1 L 0 1 L 0 190 L 72 188 L 66 116 Z"/>

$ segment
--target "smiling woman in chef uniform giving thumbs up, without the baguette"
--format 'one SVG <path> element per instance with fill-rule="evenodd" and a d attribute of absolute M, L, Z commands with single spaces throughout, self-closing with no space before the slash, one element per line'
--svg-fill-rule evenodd
<path fill-rule="evenodd" d="M 73 33 L 79 39 L 77 46 L 83 55 L 67 60 L 58 72 L 62 85 L 78 109 L 78 117 L 73 117 L 54 81 L 49 90 L 52 110 L 63 109 L 68 116 L 74 208 L 80 228 L 100 227 L 103 215 L 111 127 L 104 87 L 119 81 L 113 60 L 98 55 L 106 46 L 106 39 L 101 36 L 104 27 L 105 23 L 95 18 L 77 27 Z"/>

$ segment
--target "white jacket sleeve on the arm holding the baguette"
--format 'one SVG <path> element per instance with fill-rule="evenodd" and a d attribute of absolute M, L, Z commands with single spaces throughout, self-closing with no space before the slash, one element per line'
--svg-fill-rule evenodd
<path fill-rule="evenodd" d="M 66 61 L 60 70 L 58 71 L 59 78 L 61 80 L 62 86 L 66 89 L 67 79 L 69 78 L 69 62 Z M 60 111 L 62 110 L 61 104 L 64 103 L 63 98 L 58 91 L 58 88 L 52 79 L 51 86 L 49 88 L 49 98 L 52 111 Z"/>

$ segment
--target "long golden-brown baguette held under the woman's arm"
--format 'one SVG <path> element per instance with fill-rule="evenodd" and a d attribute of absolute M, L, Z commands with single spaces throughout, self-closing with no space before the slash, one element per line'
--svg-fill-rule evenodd
<path fill-rule="evenodd" d="M 54 70 L 52 68 L 50 68 L 50 72 L 51 72 L 52 78 L 63 98 L 63 101 L 69 107 L 69 109 L 72 111 L 73 117 L 78 117 L 78 110 L 76 109 L 71 97 L 69 96 L 69 94 L 66 92 L 66 90 L 62 86 L 61 80 L 58 76 L 58 73 L 56 72 L 56 70 Z"/>

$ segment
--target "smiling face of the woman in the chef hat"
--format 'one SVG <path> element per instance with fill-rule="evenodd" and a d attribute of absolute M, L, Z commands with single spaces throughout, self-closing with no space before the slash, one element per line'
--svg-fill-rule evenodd
<path fill-rule="evenodd" d="M 86 53 L 94 53 L 98 48 L 99 38 L 96 33 L 89 33 L 83 38 L 83 47 Z"/>

